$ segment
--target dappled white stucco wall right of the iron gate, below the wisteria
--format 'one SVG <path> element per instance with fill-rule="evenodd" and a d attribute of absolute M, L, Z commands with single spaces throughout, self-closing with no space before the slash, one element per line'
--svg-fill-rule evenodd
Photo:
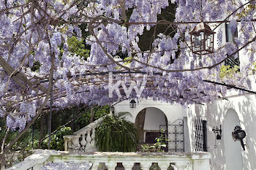
<path fill-rule="evenodd" d="M 202 105 L 191 105 L 189 106 L 188 111 L 188 121 L 189 121 L 189 138 L 191 140 L 192 150 L 195 150 L 194 146 L 194 136 L 193 136 L 193 117 L 196 115 L 206 116 L 207 119 L 207 146 L 208 152 L 211 153 L 211 169 L 212 170 L 227 170 L 227 160 L 226 156 L 228 155 L 227 146 L 228 143 L 225 143 L 225 135 L 230 135 L 230 133 L 225 134 L 223 127 L 227 122 L 227 111 L 233 109 L 236 111 L 241 128 L 246 131 L 246 138 L 244 143 L 246 144 L 246 150 L 242 150 L 241 144 L 237 144 L 235 147 L 239 147 L 242 155 L 242 164 L 243 170 L 250 170 L 256 168 L 256 96 L 252 94 L 245 94 L 242 96 L 230 96 L 227 97 L 227 100 L 216 100 L 205 106 Z M 222 139 L 217 140 L 217 148 L 214 148 L 215 144 L 215 135 L 212 131 L 214 126 L 222 125 Z M 232 127 L 235 128 L 235 127 Z M 224 133 L 223 133 L 224 132 Z M 233 142 L 233 141 L 230 141 Z M 232 143 L 233 144 L 233 143 Z M 225 150 L 226 149 L 226 150 Z M 237 148 L 236 148 L 237 149 Z M 232 156 L 232 155 L 228 155 Z M 237 157 L 234 155 L 233 161 Z M 233 162 L 235 163 L 235 162 Z M 229 170 L 229 169 L 228 169 Z M 239 170 L 239 169 L 236 169 Z"/>

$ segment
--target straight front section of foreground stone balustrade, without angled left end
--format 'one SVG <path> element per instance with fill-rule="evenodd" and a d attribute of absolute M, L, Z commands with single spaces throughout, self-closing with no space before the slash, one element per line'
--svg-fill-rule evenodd
<path fill-rule="evenodd" d="M 152 163 L 157 163 L 161 170 L 167 170 L 170 164 L 177 170 L 210 170 L 210 158 L 211 155 L 207 152 L 94 152 L 86 155 L 68 155 L 61 160 L 58 156 L 52 157 L 53 162 L 78 159 L 78 162 L 89 161 L 93 164 L 91 170 L 97 170 L 101 163 L 105 163 L 108 170 L 115 170 L 117 163 L 122 163 L 125 170 L 132 170 L 135 163 L 139 163 L 143 170 L 149 170 Z"/>

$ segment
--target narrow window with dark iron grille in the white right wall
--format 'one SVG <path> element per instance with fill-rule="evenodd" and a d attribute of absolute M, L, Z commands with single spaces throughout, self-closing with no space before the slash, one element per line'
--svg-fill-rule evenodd
<path fill-rule="evenodd" d="M 207 151 L 206 120 L 203 117 L 195 117 L 195 151 Z"/>

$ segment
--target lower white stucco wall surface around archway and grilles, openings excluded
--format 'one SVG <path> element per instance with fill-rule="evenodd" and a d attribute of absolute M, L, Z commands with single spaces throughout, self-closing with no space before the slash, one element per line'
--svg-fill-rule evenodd
<path fill-rule="evenodd" d="M 231 94 L 231 93 L 230 93 Z M 234 93 L 233 93 L 234 94 Z M 238 115 L 241 128 L 246 131 L 246 138 L 244 143 L 246 144 L 246 150 L 242 150 L 241 144 L 236 142 L 235 147 L 241 151 L 243 170 L 253 170 L 256 167 L 256 95 L 244 94 L 233 95 L 227 97 L 227 100 L 217 99 L 211 103 L 205 105 L 189 105 L 188 107 L 181 107 L 178 104 L 166 104 L 159 101 L 141 100 L 137 101 L 137 106 L 134 109 L 129 108 L 129 101 L 122 101 L 115 105 L 115 112 L 130 112 L 131 117 L 127 117 L 130 121 L 135 123 L 135 118 L 142 109 L 145 108 L 157 108 L 161 109 L 165 113 L 167 120 L 171 123 L 178 118 L 187 117 L 188 138 L 185 140 L 188 145 L 186 151 L 190 151 L 190 148 L 195 151 L 195 131 L 194 131 L 194 118 L 195 116 L 203 116 L 207 120 L 207 147 L 208 152 L 211 153 L 211 169 L 212 170 L 229 170 L 227 166 L 227 154 L 226 147 L 230 146 L 225 143 L 225 136 L 231 136 L 230 130 L 227 130 L 225 125 L 227 120 L 227 111 L 232 109 Z M 225 120 L 226 119 L 226 120 Z M 153 121 L 153 118 L 152 118 Z M 151 121 L 151 122 L 152 122 Z M 212 128 L 222 125 L 222 139 L 217 140 L 217 148 L 214 148 L 215 135 Z M 234 125 L 233 125 L 234 126 Z M 153 125 L 152 125 L 153 128 Z M 224 129 L 225 128 L 225 129 Z M 235 127 L 230 127 L 230 129 Z M 232 140 L 229 142 L 233 142 Z M 234 145 L 232 143 L 232 145 Z M 232 159 L 231 159 L 232 160 Z M 236 160 L 234 158 L 233 160 Z M 237 163 L 238 161 L 236 161 Z M 237 167 L 237 166 L 236 166 Z M 239 169 L 236 169 L 239 170 Z"/>

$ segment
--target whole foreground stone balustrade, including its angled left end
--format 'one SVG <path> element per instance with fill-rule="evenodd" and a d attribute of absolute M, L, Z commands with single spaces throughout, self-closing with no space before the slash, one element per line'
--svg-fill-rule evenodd
<path fill-rule="evenodd" d="M 149 170 L 152 163 L 157 163 L 161 170 L 167 170 L 168 168 L 176 170 L 210 170 L 210 158 L 211 155 L 208 152 L 86 152 L 80 154 L 39 150 L 11 169 L 27 170 L 33 168 L 33 170 L 37 170 L 47 163 L 72 162 L 89 163 L 92 165 L 91 170 L 97 170 L 98 168 L 132 170 L 135 165 L 140 166 L 138 169 Z M 121 164 L 124 168 L 116 168 L 118 164 Z M 170 165 L 173 168 L 170 168 Z"/>

